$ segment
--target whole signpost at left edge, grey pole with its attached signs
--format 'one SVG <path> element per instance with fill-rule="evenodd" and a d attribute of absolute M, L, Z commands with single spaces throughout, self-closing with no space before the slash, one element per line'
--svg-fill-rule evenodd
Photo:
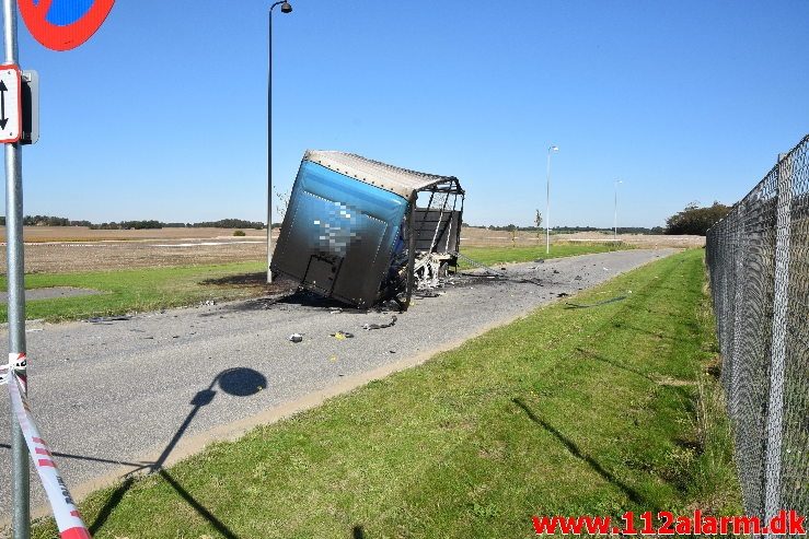
<path fill-rule="evenodd" d="M 113 3 L 115 0 L 20 0 L 19 5 L 25 24 L 37 42 L 53 50 L 69 50 L 86 42 L 99 30 Z M 18 0 L 2 0 L 5 63 L 0 66 L 0 143 L 5 145 L 9 368 L 18 373 L 24 396 L 27 392 L 27 362 L 12 361 L 12 358 L 25 358 L 26 348 L 22 144 L 33 144 L 39 138 L 39 78 L 35 71 L 26 71 L 23 78 L 18 67 L 16 9 Z M 10 383 L 16 384 L 14 376 L 10 378 Z M 20 423 L 13 414 L 11 420 L 12 534 L 14 539 L 28 539 L 28 455 Z"/>

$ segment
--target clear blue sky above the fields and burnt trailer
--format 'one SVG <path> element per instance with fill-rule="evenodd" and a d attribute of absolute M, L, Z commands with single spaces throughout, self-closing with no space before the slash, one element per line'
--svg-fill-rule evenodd
<path fill-rule="evenodd" d="M 55 1 L 57 3 L 58 0 Z M 238 5 L 238 7 L 234 7 Z M 265 219 L 269 2 L 120 0 L 46 50 L 25 213 Z M 809 2 L 293 0 L 275 15 L 274 178 L 308 148 L 454 175 L 465 221 L 654 226 L 731 203 L 809 132 Z M 4 204 L 4 196 L 3 196 Z"/>

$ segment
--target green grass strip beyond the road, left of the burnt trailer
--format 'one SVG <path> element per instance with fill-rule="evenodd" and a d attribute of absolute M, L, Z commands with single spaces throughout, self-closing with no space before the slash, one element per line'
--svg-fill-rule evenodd
<path fill-rule="evenodd" d="M 204 300 L 235 300 L 259 293 L 261 283 L 245 285 L 228 283 L 229 277 L 258 272 L 266 262 L 236 262 L 219 266 L 149 268 L 125 271 L 86 273 L 31 273 L 25 276 L 26 289 L 74 286 L 101 291 L 101 294 L 35 300 L 26 302 L 28 319 L 48 321 L 81 319 L 92 316 L 119 315 L 157 310 L 165 307 L 193 305 Z M 223 279 L 221 283 L 205 282 Z M 0 281 L 7 290 L 3 276 Z M 7 304 L 0 305 L 0 321 L 8 319 Z"/>

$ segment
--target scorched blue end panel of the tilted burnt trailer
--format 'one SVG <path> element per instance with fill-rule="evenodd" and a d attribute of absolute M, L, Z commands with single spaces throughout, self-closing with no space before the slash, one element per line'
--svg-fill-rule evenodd
<path fill-rule="evenodd" d="M 373 304 L 407 200 L 310 161 L 298 171 L 273 270 L 360 307 Z"/>

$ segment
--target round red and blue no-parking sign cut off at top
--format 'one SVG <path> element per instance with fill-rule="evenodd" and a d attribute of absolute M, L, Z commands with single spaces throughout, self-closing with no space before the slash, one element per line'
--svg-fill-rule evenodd
<path fill-rule="evenodd" d="M 54 7 L 54 2 L 65 5 Z M 90 39 L 115 0 L 19 0 L 20 13 L 37 42 L 53 50 L 70 50 Z M 56 11 L 51 11 L 56 10 Z"/>

